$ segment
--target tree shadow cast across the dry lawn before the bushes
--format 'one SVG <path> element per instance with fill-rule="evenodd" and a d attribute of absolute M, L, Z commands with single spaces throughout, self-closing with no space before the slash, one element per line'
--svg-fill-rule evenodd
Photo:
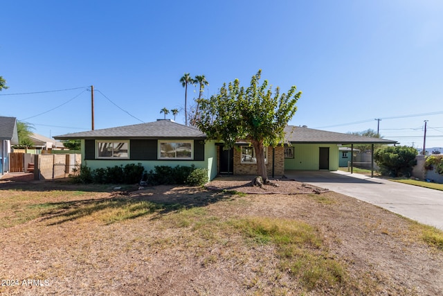
<path fill-rule="evenodd" d="M 221 200 L 230 200 L 226 192 L 208 191 L 197 187 L 156 186 L 138 191 L 116 191 L 108 198 L 45 202 L 41 220 L 48 225 L 60 225 L 80 218 L 91 217 L 105 224 L 117 223 L 141 216 L 159 218 L 184 209 L 206 207 Z"/>

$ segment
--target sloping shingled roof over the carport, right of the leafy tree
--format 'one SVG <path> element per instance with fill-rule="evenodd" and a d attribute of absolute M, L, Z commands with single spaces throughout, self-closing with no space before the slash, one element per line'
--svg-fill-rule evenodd
<path fill-rule="evenodd" d="M 395 144 L 397 141 L 362 137 L 355 134 L 342 134 L 341 132 L 327 132 L 314 130 L 294 125 L 284 128 L 287 142 L 291 143 L 333 143 L 333 144 Z"/>

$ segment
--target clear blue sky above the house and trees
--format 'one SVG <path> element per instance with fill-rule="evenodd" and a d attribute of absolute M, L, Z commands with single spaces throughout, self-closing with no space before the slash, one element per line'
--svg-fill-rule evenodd
<path fill-rule="evenodd" d="M 210 96 L 262 69 L 303 92 L 289 124 L 360 132 L 381 119 L 383 137 L 422 148 L 428 120 L 426 147 L 442 147 L 442 16 L 439 0 L 6 0 L 0 115 L 46 137 L 91 130 L 93 85 L 96 130 L 161 119 L 163 107 L 184 123 L 183 73 L 204 74 Z M 22 94 L 61 89 L 72 90 Z"/>

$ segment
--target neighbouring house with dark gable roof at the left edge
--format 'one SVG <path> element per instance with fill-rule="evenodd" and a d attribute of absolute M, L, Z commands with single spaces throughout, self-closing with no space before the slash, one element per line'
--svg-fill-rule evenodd
<path fill-rule="evenodd" d="M 0 175 L 9 171 L 8 153 L 11 152 L 11 145 L 18 143 L 17 119 L 0 116 Z"/>

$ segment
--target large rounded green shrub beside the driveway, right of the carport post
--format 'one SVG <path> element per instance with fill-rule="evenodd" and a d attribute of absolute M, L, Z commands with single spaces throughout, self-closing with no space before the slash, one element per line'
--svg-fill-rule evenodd
<path fill-rule="evenodd" d="M 417 149 L 408 146 L 386 146 L 374 152 L 374 161 L 379 165 L 383 175 L 391 177 L 410 177 Z"/>

